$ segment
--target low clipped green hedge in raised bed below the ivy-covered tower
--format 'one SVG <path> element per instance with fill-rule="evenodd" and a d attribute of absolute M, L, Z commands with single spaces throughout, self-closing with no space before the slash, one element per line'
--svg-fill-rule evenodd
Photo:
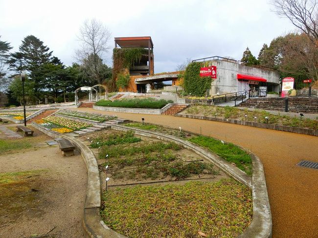
<path fill-rule="evenodd" d="M 122 99 L 122 100 L 100 100 L 95 103 L 96 106 L 100 107 L 112 107 L 112 108 L 150 108 L 160 109 L 169 103 L 173 103 L 172 100 L 156 100 L 153 98 L 134 98 L 134 99 Z"/>

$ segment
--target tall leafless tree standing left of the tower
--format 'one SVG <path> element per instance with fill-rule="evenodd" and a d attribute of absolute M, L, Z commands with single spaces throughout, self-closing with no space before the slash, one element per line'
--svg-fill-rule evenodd
<path fill-rule="evenodd" d="M 110 38 L 109 29 L 95 19 L 86 20 L 80 28 L 78 39 L 81 43 L 75 52 L 76 57 L 82 63 L 84 71 L 98 84 L 103 80 L 102 71 L 105 68 L 103 60 L 105 53 L 110 49 L 108 46 Z"/>

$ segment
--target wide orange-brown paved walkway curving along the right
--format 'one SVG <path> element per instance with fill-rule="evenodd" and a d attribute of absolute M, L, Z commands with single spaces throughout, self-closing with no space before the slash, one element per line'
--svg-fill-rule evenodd
<path fill-rule="evenodd" d="M 92 108 L 81 111 L 113 114 Z M 263 162 L 273 217 L 273 238 L 318 237 L 318 171 L 296 166 L 318 162 L 318 137 L 169 115 L 116 113 L 120 118 L 181 127 L 232 142 L 257 154 Z"/>

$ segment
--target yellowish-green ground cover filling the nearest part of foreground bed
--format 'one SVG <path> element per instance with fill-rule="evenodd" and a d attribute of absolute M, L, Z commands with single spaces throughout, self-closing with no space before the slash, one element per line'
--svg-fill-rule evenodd
<path fill-rule="evenodd" d="M 252 218 L 251 191 L 233 179 L 110 189 L 102 203 L 104 222 L 130 238 L 236 237 Z"/>

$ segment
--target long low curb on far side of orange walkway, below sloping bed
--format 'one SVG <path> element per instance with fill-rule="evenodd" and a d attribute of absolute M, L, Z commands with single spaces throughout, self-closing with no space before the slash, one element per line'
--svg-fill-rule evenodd
<path fill-rule="evenodd" d="M 185 115 L 185 114 L 176 114 L 175 116 L 184 117 L 184 118 L 192 118 L 192 119 L 200 119 L 200 120 L 206 120 L 206 121 L 226 122 L 226 123 L 237 124 L 242 126 L 257 127 L 257 128 L 270 129 L 270 130 L 280 130 L 280 131 L 287 131 L 287 132 L 293 132 L 293 133 L 304 134 L 304 135 L 318 136 L 318 130 L 298 128 L 298 127 L 289 127 L 289 126 L 273 125 L 273 124 L 250 122 L 250 121 L 240 121 L 240 120 L 233 120 L 233 119 L 222 119 L 222 118 L 214 118 L 214 117 L 208 117 L 208 116 L 196 116 L 196 115 Z"/>

